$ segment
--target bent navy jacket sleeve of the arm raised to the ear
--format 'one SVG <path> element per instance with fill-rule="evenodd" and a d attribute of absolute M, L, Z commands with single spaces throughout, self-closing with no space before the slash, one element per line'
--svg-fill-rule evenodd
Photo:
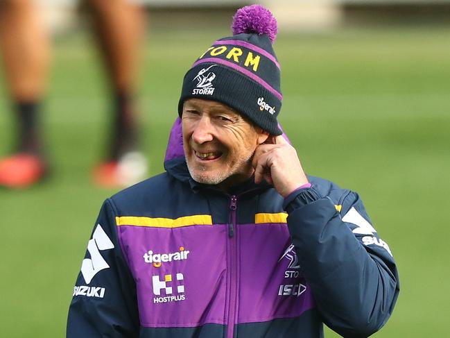
<path fill-rule="evenodd" d="M 288 196 L 284 208 L 324 323 L 343 337 L 368 337 L 379 330 L 397 301 L 399 278 L 390 248 L 358 195 L 350 192 L 335 205 L 311 187 Z"/>

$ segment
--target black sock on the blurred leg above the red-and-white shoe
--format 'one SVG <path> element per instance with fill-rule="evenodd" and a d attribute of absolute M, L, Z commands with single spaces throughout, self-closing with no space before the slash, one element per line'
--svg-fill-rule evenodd
<path fill-rule="evenodd" d="M 119 93 L 114 97 L 114 125 L 111 140 L 110 159 L 118 160 L 121 155 L 136 149 L 137 126 L 130 95 Z"/>

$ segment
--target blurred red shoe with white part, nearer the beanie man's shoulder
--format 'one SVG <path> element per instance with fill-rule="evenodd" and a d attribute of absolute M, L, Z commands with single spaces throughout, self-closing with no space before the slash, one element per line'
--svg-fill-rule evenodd
<path fill-rule="evenodd" d="M 129 187 L 144 179 L 148 171 L 144 155 L 126 153 L 118 161 L 109 161 L 94 167 L 92 178 L 98 187 L 108 189 Z"/>

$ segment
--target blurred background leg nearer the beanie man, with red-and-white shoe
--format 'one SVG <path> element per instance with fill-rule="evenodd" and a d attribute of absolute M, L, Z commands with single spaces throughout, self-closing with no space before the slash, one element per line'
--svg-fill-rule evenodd
<path fill-rule="evenodd" d="M 94 182 L 104 187 L 137 183 L 147 174 L 139 151 L 135 111 L 137 72 L 145 29 L 144 9 L 128 0 L 87 0 L 105 60 L 112 92 L 112 133 L 107 157 L 94 167 Z"/>

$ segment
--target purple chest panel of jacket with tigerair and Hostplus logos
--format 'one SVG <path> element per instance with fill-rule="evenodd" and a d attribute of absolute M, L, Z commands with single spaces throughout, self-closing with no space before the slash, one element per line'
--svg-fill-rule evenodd
<path fill-rule="evenodd" d="M 227 225 L 118 226 L 117 231 L 136 281 L 141 326 L 227 323 Z M 241 224 L 236 236 L 236 323 L 292 318 L 314 307 L 311 290 L 294 262 L 295 251 L 285 254 L 291 245 L 286 224 Z M 165 254 L 170 261 L 154 264 L 150 254 Z"/>

